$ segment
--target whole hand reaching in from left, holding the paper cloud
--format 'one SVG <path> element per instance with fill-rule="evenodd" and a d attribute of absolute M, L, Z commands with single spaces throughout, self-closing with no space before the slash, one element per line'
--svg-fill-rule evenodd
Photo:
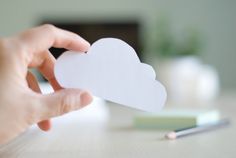
<path fill-rule="evenodd" d="M 92 101 L 84 90 L 63 89 L 53 68 L 50 47 L 85 52 L 90 44 L 80 36 L 53 25 L 29 29 L 14 37 L 0 39 L 0 144 L 9 142 L 37 123 L 43 131 L 50 119 L 78 110 Z M 29 68 L 37 68 L 54 93 L 42 95 Z"/>

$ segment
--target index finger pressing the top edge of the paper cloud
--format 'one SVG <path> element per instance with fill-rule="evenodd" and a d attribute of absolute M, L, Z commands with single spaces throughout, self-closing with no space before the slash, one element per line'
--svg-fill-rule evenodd
<path fill-rule="evenodd" d="M 23 32 L 19 38 L 28 53 L 41 53 L 52 46 L 75 51 L 87 51 L 90 47 L 79 35 L 50 24 Z"/>

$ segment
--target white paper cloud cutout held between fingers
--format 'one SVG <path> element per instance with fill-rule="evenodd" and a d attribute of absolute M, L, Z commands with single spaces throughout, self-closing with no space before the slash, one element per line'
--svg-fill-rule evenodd
<path fill-rule="evenodd" d="M 149 112 L 166 101 L 164 86 L 153 68 L 141 63 L 134 49 L 120 39 L 103 38 L 88 52 L 66 52 L 55 65 L 55 76 L 64 88 L 80 88 L 103 99 Z"/>

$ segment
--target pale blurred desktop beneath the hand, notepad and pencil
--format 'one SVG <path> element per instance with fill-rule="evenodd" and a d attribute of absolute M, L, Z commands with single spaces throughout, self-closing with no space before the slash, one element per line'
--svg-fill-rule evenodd
<path fill-rule="evenodd" d="M 135 110 L 109 103 L 109 118 L 104 117 L 104 110 L 98 110 L 101 115 L 95 110 L 83 117 L 80 111 L 54 119 L 50 132 L 41 132 L 33 126 L 2 146 L 0 157 L 233 158 L 236 157 L 235 101 L 235 96 L 224 96 L 215 105 L 231 119 L 229 127 L 172 141 L 163 139 L 165 131 L 132 128 Z M 94 119 L 89 119 L 92 116 Z"/>

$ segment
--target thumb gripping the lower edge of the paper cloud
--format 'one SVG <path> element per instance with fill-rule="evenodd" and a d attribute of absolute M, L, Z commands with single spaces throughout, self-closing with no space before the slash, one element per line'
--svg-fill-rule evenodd
<path fill-rule="evenodd" d="M 91 94 L 79 89 L 62 89 L 52 94 L 42 95 L 39 119 L 45 120 L 81 109 L 92 100 Z"/>

